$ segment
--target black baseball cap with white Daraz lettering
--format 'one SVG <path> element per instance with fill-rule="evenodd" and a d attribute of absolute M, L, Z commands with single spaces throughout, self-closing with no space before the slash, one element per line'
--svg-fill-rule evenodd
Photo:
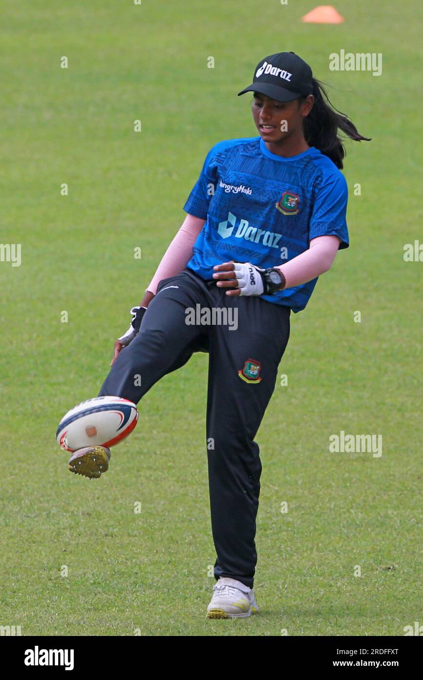
<path fill-rule="evenodd" d="M 292 101 L 312 95 L 313 73 L 310 66 L 294 52 L 278 52 L 261 60 L 254 71 L 253 84 L 238 92 L 260 92 L 275 101 Z"/>

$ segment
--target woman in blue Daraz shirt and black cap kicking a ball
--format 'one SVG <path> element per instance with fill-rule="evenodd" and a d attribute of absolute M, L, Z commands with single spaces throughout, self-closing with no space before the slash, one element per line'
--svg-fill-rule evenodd
<path fill-rule="evenodd" d="M 208 152 L 187 217 L 115 342 L 99 394 L 138 403 L 193 352 L 209 354 L 206 445 L 217 552 L 209 618 L 259 611 L 254 438 L 287 346 L 291 309 L 306 307 L 317 277 L 348 248 L 338 131 L 367 139 L 331 107 L 293 52 L 265 57 L 244 92 L 254 93 L 259 137 L 221 141 Z M 100 477 L 109 459 L 104 447 L 79 449 L 69 469 Z"/>

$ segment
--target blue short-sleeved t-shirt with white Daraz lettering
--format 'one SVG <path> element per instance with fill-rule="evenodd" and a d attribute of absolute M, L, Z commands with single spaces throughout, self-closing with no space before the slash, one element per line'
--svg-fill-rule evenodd
<path fill-rule="evenodd" d="M 317 236 L 336 235 L 339 248 L 348 248 L 347 200 L 344 175 L 313 146 L 284 158 L 268 151 L 261 137 L 221 141 L 208 152 L 184 205 L 206 220 L 187 267 L 210 280 L 213 267 L 229 260 L 282 265 Z M 316 282 L 261 297 L 298 312 Z"/>

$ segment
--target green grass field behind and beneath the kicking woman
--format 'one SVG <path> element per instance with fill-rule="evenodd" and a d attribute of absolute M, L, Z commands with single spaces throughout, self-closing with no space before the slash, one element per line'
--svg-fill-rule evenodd
<path fill-rule="evenodd" d="M 423 262 L 403 260 L 422 237 L 422 7 L 337 0 L 344 24 L 301 23 L 317 4 L 4 3 L 0 242 L 21 243 L 22 264 L 0 262 L 1 625 L 401 636 L 423 624 Z M 382 75 L 329 71 L 341 49 L 382 52 Z M 207 356 L 145 396 L 100 480 L 69 474 L 54 435 L 65 411 L 97 394 L 206 152 L 256 136 L 236 93 L 283 50 L 312 65 L 373 141 L 347 144 L 351 247 L 291 315 L 289 384 L 277 384 L 257 435 L 261 615 L 208 621 Z M 382 456 L 329 453 L 340 430 L 382 435 Z"/>

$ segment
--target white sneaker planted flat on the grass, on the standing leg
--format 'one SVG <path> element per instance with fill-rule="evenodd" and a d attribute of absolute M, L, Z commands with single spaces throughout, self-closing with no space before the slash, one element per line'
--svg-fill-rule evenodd
<path fill-rule="evenodd" d="M 213 585 L 213 597 L 207 607 L 207 619 L 234 619 L 257 614 L 259 607 L 253 590 L 236 579 L 220 577 Z"/>

